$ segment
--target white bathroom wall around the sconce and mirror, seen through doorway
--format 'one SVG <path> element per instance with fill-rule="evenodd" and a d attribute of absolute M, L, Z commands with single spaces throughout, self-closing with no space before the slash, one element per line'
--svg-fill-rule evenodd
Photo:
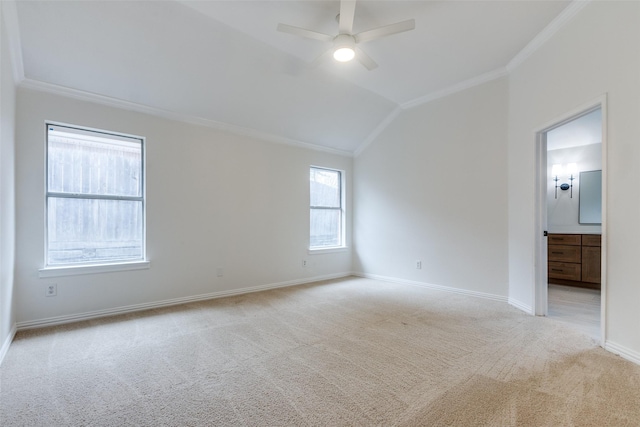
<path fill-rule="evenodd" d="M 573 197 L 570 191 L 558 188 L 552 180 L 551 169 L 554 164 L 576 163 L 578 173 L 573 180 Z M 579 147 L 562 148 L 547 151 L 547 229 L 550 233 L 600 233 L 602 226 L 579 223 L 580 215 L 580 172 L 602 169 L 602 144 L 589 144 Z M 558 185 L 571 184 L 567 175 L 559 176 Z"/>

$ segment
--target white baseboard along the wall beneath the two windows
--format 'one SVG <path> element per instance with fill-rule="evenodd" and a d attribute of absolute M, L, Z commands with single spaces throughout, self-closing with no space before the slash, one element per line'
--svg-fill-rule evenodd
<path fill-rule="evenodd" d="M 194 295 L 189 297 L 172 298 L 163 301 L 156 301 L 143 304 L 127 305 L 123 307 L 109 308 L 105 310 L 96 310 L 86 313 L 70 314 L 65 316 L 49 317 L 46 319 L 29 320 L 26 322 L 18 322 L 17 330 L 43 328 L 48 326 L 62 325 L 65 323 L 80 322 L 83 320 L 98 319 L 101 317 L 115 316 L 118 314 L 134 313 L 137 311 L 151 310 L 154 308 L 170 307 L 173 305 L 186 304 L 190 302 L 206 301 L 217 298 L 230 297 L 235 295 L 249 294 L 253 292 L 262 292 L 269 289 L 286 288 L 290 286 L 304 285 L 307 283 L 320 282 L 323 280 L 340 279 L 351 276 L 351 272 L 329 274 L 325 276 L 308 277 L 305 279 L 290 280 L 286 282 L 270 283 L 266 285 L 252 286 L 248 288 L 233 289 L 228 291 L 211 292 L 207 294 Z M 4 347 L 3 347 L 4 348 Z"/>

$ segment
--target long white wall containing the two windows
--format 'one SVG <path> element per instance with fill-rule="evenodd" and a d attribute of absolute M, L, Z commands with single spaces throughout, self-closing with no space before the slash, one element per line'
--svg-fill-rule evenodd
<path fill-rule="evenodd" d="M 147 138 L 149 270 L 39 278 L 44 257 L 45 120 Z M 351 158 L 19 89 L 19 326 L 350 272 L 350 251 L 307 253 L 310 165 L 346 171 L 350 210 Z M 303 258 L 308 259 L 306 268 Z M 216 276 L 218 267 L 224 269 L 223 277 Z M 50 283 L 58 285 L 57 297 L 45 297 L 45 285 Z"/>

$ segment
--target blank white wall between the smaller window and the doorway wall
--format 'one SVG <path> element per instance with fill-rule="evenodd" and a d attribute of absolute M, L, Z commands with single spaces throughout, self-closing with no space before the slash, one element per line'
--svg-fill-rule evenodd
<path fill-rule="evenodd" d="M 402 112 L 356 158 L 355 271 L 506 298 L 506 108 L 494 80 Z"/>

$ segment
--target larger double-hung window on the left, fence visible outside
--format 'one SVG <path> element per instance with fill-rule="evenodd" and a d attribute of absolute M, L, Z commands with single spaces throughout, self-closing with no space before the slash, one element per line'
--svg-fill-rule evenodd
<path fill-rule="evenodd" d="M 144 260 L 143 142 L 47 124 L 47 266 Z"/>

